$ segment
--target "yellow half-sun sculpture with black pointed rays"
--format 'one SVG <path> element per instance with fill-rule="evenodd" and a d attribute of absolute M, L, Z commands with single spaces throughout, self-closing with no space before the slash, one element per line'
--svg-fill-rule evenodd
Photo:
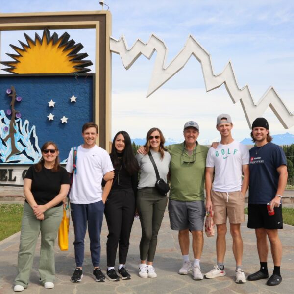
<path fill-rule="evenodd" d="M 90 60 L 82 60 L 87 53 L 78 53 L 83 45 L 69 41 L 70 35 L 65 32 L 60 38 L 56 33 L 50 36 L 49 30 L 43 31 L 42 39 L 36 33 L 35 40 L 25 34 L 27 44 L 20 42 L 23 48 L 10 44 L 18 54 L 7 54 L 15 61 L 3 61 L 9 73 L 87 73 L 86 68 L 93 65 Z"/>

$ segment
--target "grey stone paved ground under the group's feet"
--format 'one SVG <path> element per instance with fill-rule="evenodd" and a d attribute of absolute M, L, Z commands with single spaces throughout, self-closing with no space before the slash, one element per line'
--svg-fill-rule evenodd
<path fill-rule="evenodd" d="M 242 235 L 244 240 L 244 270 L 245 275 L 258 270 L 259 262 L 255 245 L 255 235 L 253 230 L 242 225 Z M 101 268 L 106 270 L 106 221 L 103 223 L 101 235 L 102 252 Z M 140 221 L 135 220 L 131 234 L 131 245 L 127 260 L 132 279 L 128 281 L 96 283 L 92 278 L 92 266 L 89 252 L 89 240 L 86 237 L 86 253 L 84 263 L 84 278 L 81 283 L 71 283 L 70 276 L 74 270 L 73 254 L 73 226 L 70 229 L 70 250 L 60 251 L 58 246 L 55 247 L 56 260 L 56 280 L 55 288 L 46 290 L 39 284 L 38 261 L 39 248 L 37 246 L 33 270 L 31 273 L 30 284 L 23 292 L 26 294 L 189 294 L 189 293 L 218 293 L 218 294 L 236 294 L 236 293 L 293 293 L 294 285 L 294 227 L 285 225 L 280 231 L 280 237 L 283 243 L 283 262 L 282 276 L 283 282 L 279 286 L 269 287 L 266 280 L 248 282 L 245 284 L 236 284 L 235 261 L 231 250 L 232 242 L 228 236 L 227 253 L 225 257 L 225 267 L 227 275 L 225 277 L 213 280 L 204 279 L 194 281 L 191 274 L 183 276 L 177 273 L 181 266 L 181 254 L 177 241 L 177 233 L 169 227 L 168 212 L 166 212 L 163 225 L 159 232 L 159 241 L 154 260 L 154 267 L 157 272 L 157 279 L 142 279 L 138 276 L 139 263 L 139 241 L 141 237 Z M 203 273 L 212 269 L 216 262 L 215 237 L 204 237 L 204 248 L 201 259 L 201 270 Z M 13 293 L 12 284 L 17 273 L 17 252 L 19 246 L 19 233 L 0 242 L 0 294 Z M 190 258 L 192 255 L 190 253 Z M 273 265 L 271 257 L 269 258 L 269 269 L 272 271 Z"/>

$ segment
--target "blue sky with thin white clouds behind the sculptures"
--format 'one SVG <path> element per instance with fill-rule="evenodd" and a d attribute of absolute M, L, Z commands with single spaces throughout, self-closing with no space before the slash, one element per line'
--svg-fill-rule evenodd
<path fill-rule="evenodd" d="M 98 2 L 0 0 L 0 11 L 100 10 Z M 112 13 L 112 36 L 118 39 L 124 35 L 129 47 L 138 38 L 147 42 L 151 33 L 155 33 L 169 49 L 169 63 L 192 34 L 210 53 L 215 74 L 221 73 L 231 60 L 239 87 L 248 84 L 255 103 L 273 86 L 288 109 L 294 110 L 294 1 L 105 0 L 105 3 Z M 93 30 L 69 33 L 95 61 Z M 1 34 L 1 60 L 8 60 L 5 53 L 13 52 L 8 45 L 18 46 L 17 40 L 24 41 L 23 32 Z M 201 67 L 194 57 L 146 98 L 155 54 L 150 60 L 141 56 L 128 71 L 119 55 L 112 54 L 112 135 L 124 129 L 132 138 L 142 138 L 150 127 L 157 126 L 165 137 L 181 140 L 184 123 L 195 120 L 200 126 L 199 141 L 204 143 L 218 138 L 216 117 L 224 112 L 232 116 L 234 138 L 248 137 L 250 130 L 240 102 L 233 104 L 224 86 L 206 93 Z M 264 116 L 269 120 L 272 134 L 294 133 L 294 127 L 285 130 L 270 109 Z"/>

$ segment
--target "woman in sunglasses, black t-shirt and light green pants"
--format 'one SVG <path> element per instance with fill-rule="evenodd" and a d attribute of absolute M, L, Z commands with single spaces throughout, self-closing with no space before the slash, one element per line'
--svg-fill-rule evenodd
<path fill-rule="evenodd" d="M 23 291 L 28 286 L 40 232 L 40 282 L 46 289 L 54 287 L 54 243 L 70 180 L 66 170 L 59 165 L 56 144 L 46 142 L 41 151 L 42 158 L 28 169 L 24 180 L 25 204 L 14 291 Z"/>

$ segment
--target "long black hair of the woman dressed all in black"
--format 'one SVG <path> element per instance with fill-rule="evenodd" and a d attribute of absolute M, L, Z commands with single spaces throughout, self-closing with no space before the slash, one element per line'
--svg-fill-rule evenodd
<path fill-rule="evenodd" d="M 133 175 L 135 172 L 138 172 L 139 165 L 138 165 L 138 161 L 134 155 L 134 151 L 133 151 L 132 143 L 131 143 L 131 138 L 126 131 L 120 131 L 114 136 L 112 147 L 111 147 L 110 157 L 111 157 L 114 168 L 118 169 L 120 166 L 120 160 L 119 160 L 117 152 L 116 152 L 115 140 L 116 140 L 117 136 L 120 134 L 123 135 L 123 138 L 124 138 L 123 165 L 124 165 L 126 171 L 130 175 Z"/>

